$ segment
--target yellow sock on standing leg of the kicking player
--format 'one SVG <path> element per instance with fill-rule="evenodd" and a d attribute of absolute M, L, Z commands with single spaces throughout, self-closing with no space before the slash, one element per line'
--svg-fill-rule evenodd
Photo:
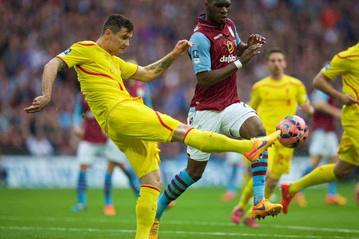
<path fill-rule="evenodd" d="M 141 185 L 140 196 L 136 202 L 137 231 L 135 239 L 148 239 L 155 220 L 159 188 Z"/>

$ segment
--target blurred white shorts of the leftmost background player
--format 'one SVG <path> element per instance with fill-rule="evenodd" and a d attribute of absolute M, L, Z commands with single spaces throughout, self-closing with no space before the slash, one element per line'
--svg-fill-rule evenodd
<path fill-rule="evenodd" d="M 77 159 L 80 164 L 91 165 L 98 158 L 103 157 L 106 144 L 95 144 L 81 141 L 77 148 Z"/>

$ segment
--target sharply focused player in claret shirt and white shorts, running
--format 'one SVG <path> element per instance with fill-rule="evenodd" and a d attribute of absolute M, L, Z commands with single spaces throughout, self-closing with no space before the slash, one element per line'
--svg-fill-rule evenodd
<path fill-rule="evenodd" d="M 199 15 L 190 36 L 194 46 L 188 49 L 188 53 L 197 85 L 187 123 L 200 130 L 251 139 L 266 135 L 266 131 L 256 111 L 238 99 L 237 71 L 259 54 L 266 42 L 258 34 L 251 35 L 247 44 L 239 39 L 236 26 L 228 19 L 230 5 L 230 0 L 204 1 L 206 13 Z M 187 167 L 173 178 L 158 199 L 153 238 L 157 238 L 159 220 L 167 205 L 202 177 L 210 153 L 188 146 L 187 156 Z M 266 162 L 267 158 L 260 158 L 259 161 Z M 253 171 L 258 171 L 256 165 L 252 164 Z M 265 171 L 258 171 L 258 177 L 253 181 L 253 217 L 264 218 L 269 213 L 278 214 L 282 210 L 280 204 L 271 204 L 264 198 Z"/>

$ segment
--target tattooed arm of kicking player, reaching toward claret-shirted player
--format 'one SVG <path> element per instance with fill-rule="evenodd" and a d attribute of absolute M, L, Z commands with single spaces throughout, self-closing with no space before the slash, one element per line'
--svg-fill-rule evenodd
<path fill-rule="evenodd" d="M 193 43 L 188 40 L 180 40 L 177 42 L 174 49 L 162 59 L 149 64 L 148 66 L 139 66 L 135 75 L 131 76 L 132 80 L 137 81 L 151 81 L 162 75 L 169 66 L 173 63 L 174 59 L 182 56 L 189 47 L 193 47 Z"/>

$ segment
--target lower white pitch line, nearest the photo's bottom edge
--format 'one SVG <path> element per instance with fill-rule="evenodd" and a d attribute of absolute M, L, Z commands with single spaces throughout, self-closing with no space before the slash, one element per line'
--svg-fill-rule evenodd
<path fill-rule="evenodd" d="M 87 231 L 98 233 L 135 233 L 135 230 L 121 230 L 121 229 L 99 229 L 99 228 L 60 228 L 60 227 L 33 227 L 33 226 L 0 226 L 0 229 L 5 230 L 46 230 L 46 231 Z M 161 234 L 189 234 L 189 235 L 209 235 L 209 236 L 272 236 L 276 238 L 328 238 L 323 236 L 311 235 L 282 235 L 282 234 L 252 234 L 252 233 L 225 233 L 225 232 L 197 232 L 197 231 L 160 231 Z M 332 238 L 332 237 L 331 237 Z M 345 239 L 348 237 L 336 236 L 337 239 Z M 351 238 L 357 239 L 357 238 Z"/>

